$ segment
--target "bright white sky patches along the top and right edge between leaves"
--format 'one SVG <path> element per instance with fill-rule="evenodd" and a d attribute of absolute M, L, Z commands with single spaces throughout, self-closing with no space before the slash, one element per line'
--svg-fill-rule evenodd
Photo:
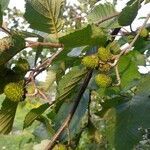
<path fill-rule="evenodd" d="M 106 2 L 106 1 L 112 3 L 113 0 L 101 0 L 102 3 Z M 128 1 L 129 0 L 118 0 L 117 5 L 116 5 L 117 11 L 120 12 L 126 6 L 126 3 Z M 78 1 L 77 0 L 67 0 L 67 3 L 69 3 L 70 5 L 73 5 L 73 4 L 78 4 Z M 17 9 L 20 9 L 22 12 L 25 11 L 25 8 L 24 8 L 25 1 L 24 0 L 19 0 L 19 1 L 18 0 L 10 0 L 9 7 L 13 8 L 14 6 Z M 148 13 L 150 13 L 150 3 L 147 4 L 147 5 L 142 6 L 142 8 L 139 10 L 136 19 L 132 23 L 133 30 L 136 30 L 144 22 L 143 19 L 141 19 L 139 21 L 138 18 L 146 17 Z M 149 23 L 150 23 L 150 20 L 149 20 Z M 129 27 L 127 27 L 126 29 L 129 30 Z M 143 67 L 143 66 L 139 66 L 139 71 L 140 72 L 142 71 L 143 73 L 148 73 L 148 71 L 150 71 L 150 67 L 146 68 L 146 67 Z"/>

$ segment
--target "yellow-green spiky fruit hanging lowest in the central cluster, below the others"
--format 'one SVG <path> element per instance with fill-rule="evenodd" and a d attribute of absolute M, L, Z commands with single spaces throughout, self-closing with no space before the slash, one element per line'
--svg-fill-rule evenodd
<path fill-rule="evenodd" d="M 112 79 L 106 74 L 98 74 L 95 76 L 95 82 L 98 86 L 109 87 L 112 83 Z"/>

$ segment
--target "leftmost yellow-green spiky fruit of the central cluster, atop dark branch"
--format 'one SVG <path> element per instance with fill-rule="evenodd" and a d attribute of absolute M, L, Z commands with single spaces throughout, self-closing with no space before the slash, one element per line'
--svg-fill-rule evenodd
<path fill-rule="evenodd" d="M 82 64 L 87 68 L 96 68 L 99 64 L 99 59 L 96 55 L 85 56 L 82 59 Z"/>

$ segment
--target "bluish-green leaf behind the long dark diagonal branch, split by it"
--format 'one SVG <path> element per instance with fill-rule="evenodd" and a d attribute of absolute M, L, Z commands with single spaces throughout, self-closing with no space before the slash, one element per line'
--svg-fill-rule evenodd
<path fill-rule="evenodd" d="M 83 123 L 83 117 L 87 111 L 88 103 L 89 103 L 89 91 L 86 90 L 85 93 L 83 94 L 82 99 L 80 100 L 80 103 L 69 125 L 71 138 L 74 138 L 78 133 L 80 133 L 83 126 L 85 125 L 84 124 L 85 122 Z M 61 126 L 62 122 L 68 116 L 73 104 L 74 101 L 65 101 L 62 104 L 53 121 L 55 123 L 56 129 L 58 129 Z M 66 131 L 61 135 L 61 139 L 67 140 Z"/>

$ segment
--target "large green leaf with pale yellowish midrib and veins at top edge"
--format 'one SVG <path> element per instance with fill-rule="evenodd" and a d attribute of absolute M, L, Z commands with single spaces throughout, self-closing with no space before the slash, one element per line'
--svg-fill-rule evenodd
<path fill-rule="evenodd" d="M 31 28 L 57 34 L 62 29 L 64 0 L 26 0 L 25 19 Z"/>

